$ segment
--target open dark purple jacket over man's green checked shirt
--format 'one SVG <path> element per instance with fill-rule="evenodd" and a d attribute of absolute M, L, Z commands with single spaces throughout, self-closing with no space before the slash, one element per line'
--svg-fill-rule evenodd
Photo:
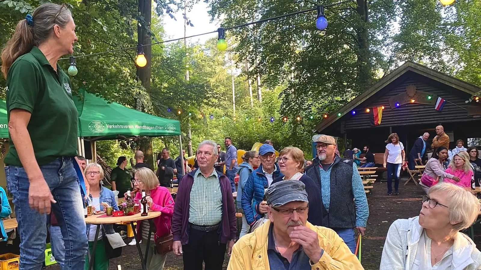
<path fill-rule="evenodd" d="M 190 190 L 192 189 L 192 184 L 194 184 L 194 175 L 198 170 L 187 173 L 180 181 L 177 190 L 174 216 L 171 224 L 174 241 L 182 241 L 182 245 L 189 244 Z M 237 236 L 236 208 L 229 179 L 220 172 L 217 172 L 217 175 L 219 175 L 220 190 L 222 192 L 222 221 L 219 228 L 219 242 L 227 244 L 229 240 L 236 239 Z"/>

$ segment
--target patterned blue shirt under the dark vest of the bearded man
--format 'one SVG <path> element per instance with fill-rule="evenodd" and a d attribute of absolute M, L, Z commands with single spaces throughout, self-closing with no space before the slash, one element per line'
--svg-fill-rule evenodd
<path fill-rule="evenodd" d="M 321 176 L 321 187 L 322 187 L 322 203 L 324 208 L 329 212 L 330 204 L 330 171 L 332 164 L 329 166 L 327 171 L 319 166 L 319 173 Z M 366 227 L 367 218 L 369 217 L 369 206 L 367 205 L 366 193 L 364 192 L 364 185 L 362 184 L 361 175 L 357 171 L 357 166 L 353 163 L 353 179 L 352 188 L 354 195 L 354 205 L 356 207 L 356 226 Z"/>

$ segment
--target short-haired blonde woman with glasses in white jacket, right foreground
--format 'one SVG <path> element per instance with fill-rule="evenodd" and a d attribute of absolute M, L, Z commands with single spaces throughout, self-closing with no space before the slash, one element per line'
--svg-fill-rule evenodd
<path fill-rule="evenodd" d="M 422 201 L 418 217 L 392 223 L 380 270 L 478 270 L 481 252 L 459 231 L 475 221 L 479 200 L 460 186 L 439 183 Z"/>

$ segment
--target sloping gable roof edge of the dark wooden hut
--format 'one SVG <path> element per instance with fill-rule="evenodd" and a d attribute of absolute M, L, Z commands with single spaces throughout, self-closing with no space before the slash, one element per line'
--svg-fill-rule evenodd
<path fill-rule="evenodd" d="M 405 74 L 408 71 L 415 72 L 417 74 L 423 75 L 425 77 L 428 77 L 430 79 L 443 83 L 447 86 L 454 87 L 458 90 L 468 93 L 469 95 L 474 95 L 477 92 L 481 91 L 481 88 L 478 86 L 461 81 L 453 76 L 449 76 L 447 74 L 435 71 L 421 64 L 418 64 L 412 61 L 406 61 L 403 65 L 393 70 L 390 74 L 387 74 L 386 76 L 382 77 L 376 84 L 371 86 L 364 93 L 360 94 L 359 96 L 351 100 L 349 103 L 344 105 L 341 109 L 332 113 L 324 121 L 316 125 L 315 132 L 317 133 L 321 132 L 322 130 L 327 128 L 330 124 L 336 122 L 337 120 L 342 118 L 342 116 L 347 114 L 349 111 L 353 110 L 356 106 L 366 101 L 367 98 L 370 98 L 372 95 L 376 94 L 378 91 L 380 91 L 385 86 L 389 85 L 395 79 L 399 78 L 401 75 Z M 338 116 L 337 115 L 338 113 L 341 113 L 341 116 Z"/>

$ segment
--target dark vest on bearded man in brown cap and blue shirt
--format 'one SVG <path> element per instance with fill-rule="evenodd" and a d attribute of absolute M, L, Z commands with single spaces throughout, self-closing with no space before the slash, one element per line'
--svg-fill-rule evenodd
<path fill-rule="evenodd" d="M 356 213 L 353 194 L 353 160 L 336 157 L 330 172 L 329 212 L 322 203 L 322 182 L 319 173 L 319 159 L 306 168 L 305 174 L 311 177 L 321 190 L 323 226 L 328 228 L 354 228 Z"/>

